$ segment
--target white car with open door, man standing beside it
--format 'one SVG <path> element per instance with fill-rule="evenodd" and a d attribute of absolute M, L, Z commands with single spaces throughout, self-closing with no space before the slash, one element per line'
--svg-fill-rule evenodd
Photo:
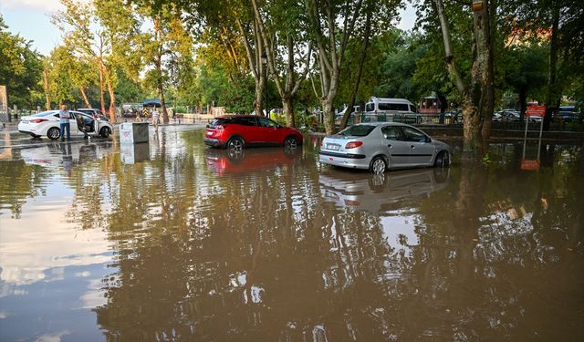
<path fill-rule="evenodd" d="M 47 136 L 57 140 L 61 136 L 58 110 L 47 110 L 35 115 L 22 117 L 18 123 L 18 131 L 30 134 L 34 138 Z M 69 110 L 72 118 L 69 119 L 71 136 L 82 136 L 84 125 L 91 136 L 108 138 L 113 132 L 113 125 L 108 121 L 93 119 L 90 115 L 75 110 Z M 81 127 L 81 129 L 79 129 Z"/>

